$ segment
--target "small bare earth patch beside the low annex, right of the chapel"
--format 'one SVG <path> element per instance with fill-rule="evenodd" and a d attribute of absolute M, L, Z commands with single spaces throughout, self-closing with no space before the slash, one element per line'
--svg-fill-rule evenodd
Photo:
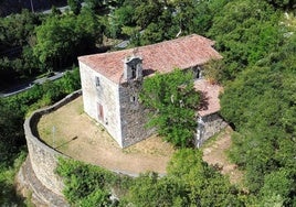
<path fill-rule="evenodd" d="M 226 151 L 231 146 L 231 128 L 226 128 L 219 134 L 215 141 L 210 141 L 209 145 L 203 146 L 203 160 L 221 168 L 221 173 L 230 177 L 232 184 L 241 184 L 243 173 L 235 164 L 230 163 Z"/>

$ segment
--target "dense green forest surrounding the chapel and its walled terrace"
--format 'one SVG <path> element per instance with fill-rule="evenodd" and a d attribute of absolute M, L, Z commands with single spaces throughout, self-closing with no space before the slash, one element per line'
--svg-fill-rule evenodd
<path fill-rule="evenodd" d="M 71 204 L 296 206 L 294 0 L 67 3 L 71 9 L 65 13 L 53 7 L 50 14 L 23 10 L 0 19 L 0 90 L 75 67 L 78 55 L 99 52 L 105 40 L 129 40 L 128 46 L 134 47 L 191 33 L 207 36 L 215 41 L 223 59 L 208 64 L 205 75 L 224 87 L 221 115 L 235 130 L 230 159 L 244 172 L 244 187 L 233 186 L 202 162 L 200 151 L 191 149 L 177 151 L 161 178 L 150 173 L 131 179 L 61 161 L 57 172 L 65 178 Z M 25 116 L 80 88 L 77 69 L 73 70 L 61 80 L 0 99 L 1 205 L 11 204 L 13 172 L 25 153 Z M 110 187 L 121 192 L 119 201 L 109 199 Z"/>

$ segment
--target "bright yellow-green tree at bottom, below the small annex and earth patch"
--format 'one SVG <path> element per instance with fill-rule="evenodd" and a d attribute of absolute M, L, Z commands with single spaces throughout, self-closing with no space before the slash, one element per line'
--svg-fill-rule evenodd
<path fill-rule="evenodd" d="M 202 152 L 178 150 L 168 165 L 168 177 L 186 187 L 193 206 L 243 206 L 228 178 L 202 160 Z"/>

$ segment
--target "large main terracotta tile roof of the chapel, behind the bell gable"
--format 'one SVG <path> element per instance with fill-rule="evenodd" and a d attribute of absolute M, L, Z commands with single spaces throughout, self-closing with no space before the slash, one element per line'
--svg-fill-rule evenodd
<path fill-rule="evenodd" d="M 213 41 L 192 34 L 158 44 L 130 50 L 101 53 L 78 57 L 78 61 L 115 83 L 120 83 L 124 74 L 124 59 L 127 56 L 142 58 L 144 74 L 168 73 L 173 68 L 189 68 L 202 65 L 210 59 L 222 58 L 212 47 Z"/>

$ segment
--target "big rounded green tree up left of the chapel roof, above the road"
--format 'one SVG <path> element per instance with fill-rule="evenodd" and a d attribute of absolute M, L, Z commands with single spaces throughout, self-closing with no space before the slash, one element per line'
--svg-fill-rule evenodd
<path fill-rule="evenodd" d="M 93 50 L 96 41 L 102 41 L 101 36 L 101 24 L 87 10 L 77 17 L 53 15 L 36 28 L 34 55 L 49 68 L 61 68 Z"/>

